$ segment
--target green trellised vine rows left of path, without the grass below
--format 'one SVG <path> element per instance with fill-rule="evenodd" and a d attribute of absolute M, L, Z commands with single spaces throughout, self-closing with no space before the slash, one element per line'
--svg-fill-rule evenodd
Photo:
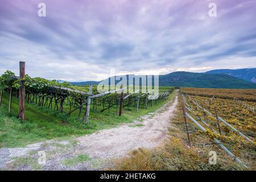
<path fill-rule="evenodd" d="M 68 115 L 76 110 L 79 110 L 78 119 L 81 117 L 82 107 L 86 105 L 86 112 L 82 117 L 82 122 L 89 121 L 89 110 L 90 104 L 92 103 L 93 109 L 110 112 L 110 108 L 116 108 L 116 113 L 119 107 L 119 116 L 122 115 L 122 108 L 127 107 L 146 107 L 157 104 L 159 101 L 167 100 L 170 91 L 160 92 L 154 97 L 156 99 L 150 100 L 149 98 L 154 95 L 154 93 L 142 94 L 141 90 L 136 90 L 134 94 L 123 94 L 122 90 L 110 90 L 105 93 L 97 93 L 97 88 L 90 86 L 72 86 L 68 82 L 58 83 L 56 80 L 48 81 L 44 78 L 31 78 L 26 76 L 22 79 L 24 86 L 26 87 L 25 99 L 28 103 L 35 103 L 38 106 L 44 106 L 48 109 L 56 109 L 63 112 L 63 105 L 67 104 L 69 106 Z M 1 84 L 1 96 L 0 104 L 2 100 L 3 91 L 10 93 L 10 104 L 9 112 L 11 111 L 11 100 L 13 96 L 19 96 L 19 82 L 18 77 L 14 75 L 13 72 L 6 71 L 0 77 Z M 115 91 L 117 93 L 115 93 Z M 118 93 L 119 91 L 119 93 Z M 73 108 L 75 107 L 75 108 Z"/>

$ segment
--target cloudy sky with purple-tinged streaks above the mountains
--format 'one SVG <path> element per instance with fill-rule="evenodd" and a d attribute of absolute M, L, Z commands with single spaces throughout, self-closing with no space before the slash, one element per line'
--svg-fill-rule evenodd
<path fill-rule="evenodd" d="M 255 22 L 255 0 L 1 0 L 0 74 L 18 75 L 19 61 L 32 77 L 67 81 L 102 80 L 113 69 L 255 68 Z"/>

